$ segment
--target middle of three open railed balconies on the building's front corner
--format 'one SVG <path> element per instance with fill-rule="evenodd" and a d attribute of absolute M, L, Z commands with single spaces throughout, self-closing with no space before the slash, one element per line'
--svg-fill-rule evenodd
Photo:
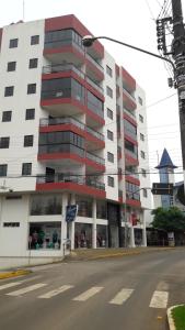
<path fill-rule="evenodd" d="M 86 127 L 72 117 L 43 118 L 39 121 L 39 132 L 73 131 L 85 139 L 86 150 L 105 147 L 102 133 Z"/>

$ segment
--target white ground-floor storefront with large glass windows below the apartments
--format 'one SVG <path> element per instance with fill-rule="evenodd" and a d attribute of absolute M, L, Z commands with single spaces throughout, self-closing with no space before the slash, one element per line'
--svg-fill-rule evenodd
<path fill-rule="evenodd" d="M 72 222 L 66 221 L 68 205 L 78 205 Z M 11 260 L 21 265 L 21 260 L 35 264 L 62 258 L 74 249 L 136 245 L 147 245 L 144 223 L 126 222 L 119 205 L 67 193 L 0 199 L 0 257 L 10 258 L 10 266 Z"/>

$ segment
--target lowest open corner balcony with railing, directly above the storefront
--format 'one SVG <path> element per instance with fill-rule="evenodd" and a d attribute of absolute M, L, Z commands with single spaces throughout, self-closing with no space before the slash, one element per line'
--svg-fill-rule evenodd
<path fill-rule="evenodd" d="M 104 183 L 71 174 L 55 174 L 53 177 L 39 176 L 36 180 L 36 190 L 70 190 L 78 194 L 105 198 Z"/>

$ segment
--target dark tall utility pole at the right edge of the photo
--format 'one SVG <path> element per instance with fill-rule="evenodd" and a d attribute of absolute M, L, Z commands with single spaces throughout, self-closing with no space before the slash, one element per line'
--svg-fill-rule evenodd
<path fill-rule="evenodd" d="M 172 24 L 174 38 L 172 55 L 175 62 L 175 80 L 178 95 L 180 129 L 185 178 L 185 28 L 181 0 L 172 0 Z"/>

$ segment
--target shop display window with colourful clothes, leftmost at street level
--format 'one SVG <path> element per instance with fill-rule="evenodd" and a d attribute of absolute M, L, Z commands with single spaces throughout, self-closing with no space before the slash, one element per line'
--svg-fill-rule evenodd
<path fill-rule="evenodd" d="M 30 223 L 28 250 L 59 250 L 61 243 L 60 222 Z"/>

